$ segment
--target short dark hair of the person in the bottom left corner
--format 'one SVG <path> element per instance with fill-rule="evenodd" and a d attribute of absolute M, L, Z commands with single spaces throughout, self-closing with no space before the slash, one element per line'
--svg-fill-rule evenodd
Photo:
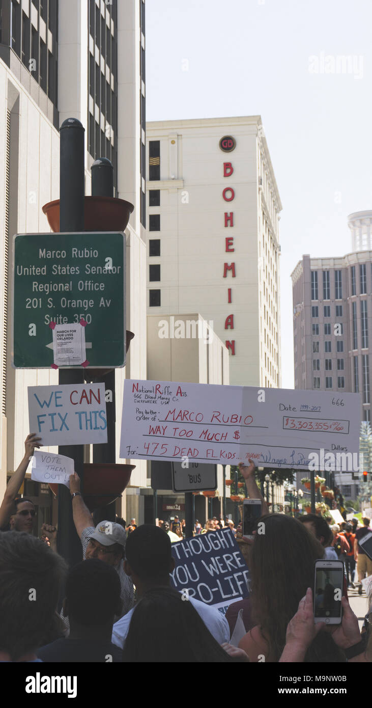
<path fill-rule="evenodd" d="M 40 539 L 0 532 L 0 649 L 11 661 L 40 646 L 65 572 L 64 559 Z"/>

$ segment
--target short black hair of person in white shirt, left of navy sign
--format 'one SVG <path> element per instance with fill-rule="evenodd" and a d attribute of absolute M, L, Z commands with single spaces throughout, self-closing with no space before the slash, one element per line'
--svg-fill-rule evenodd
<path fill-rule="evenodd" d="M 142 524 L 127 538 L 125 558 L 141 580 L 164 580 L 172 558 L 170 537 L 158 526 Z"/>

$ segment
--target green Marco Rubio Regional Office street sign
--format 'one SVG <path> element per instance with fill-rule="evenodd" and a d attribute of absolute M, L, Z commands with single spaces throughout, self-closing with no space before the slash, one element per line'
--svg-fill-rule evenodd
<path fill-rule="evenodd" d="M 50 323 L 86 321 L 89 367 L 125 365 L 125 235 L 13 237 L 12 365 L 50 369 Z"/>

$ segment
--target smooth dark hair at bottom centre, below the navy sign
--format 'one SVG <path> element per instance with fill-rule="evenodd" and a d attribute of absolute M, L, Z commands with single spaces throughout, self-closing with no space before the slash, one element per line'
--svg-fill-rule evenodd
<path fill-rule="evenodd" d="M 192 603 L 183 601 L 173 588 L 156 588 L 145 593 L 134 609 L 123 661 L 231 663 L 234 660 L 211 635 Z"/>

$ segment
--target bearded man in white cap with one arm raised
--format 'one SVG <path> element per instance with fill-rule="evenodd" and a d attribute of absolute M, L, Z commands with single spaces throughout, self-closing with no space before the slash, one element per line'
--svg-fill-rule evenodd
<path fill-rule="evenodd" d="M 83 545 L 83 560 L 98 558 L 100 561 L 114 566 L 120 578 L 120 598 L 122 600 L 120 617 L 123 617 L 129 610 L 132 610 L 134 604 L 132 579 L 124 573 L 123 568 L 127 534 L 121 524 L 113 521 L 101 521 L 96 527 L 92 525 L 92 515 L 81 496 L 80 478 L 76 472 L 70 475 L 70 494 L 76 532 Z"/>

